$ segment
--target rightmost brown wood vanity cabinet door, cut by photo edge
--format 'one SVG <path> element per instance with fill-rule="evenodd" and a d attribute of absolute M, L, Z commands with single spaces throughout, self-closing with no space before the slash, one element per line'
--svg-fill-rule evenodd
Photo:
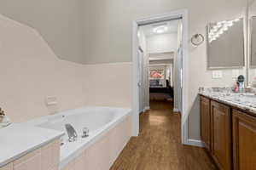
<path fill-rule="evenodd" d="M 256 170 L 256 117 L 233 111 L 234 169 Z"/>

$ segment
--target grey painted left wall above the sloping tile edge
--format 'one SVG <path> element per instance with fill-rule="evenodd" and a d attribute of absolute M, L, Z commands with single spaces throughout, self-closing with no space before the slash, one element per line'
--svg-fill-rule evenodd
<path fill-rule="evenodd" d="M 81 62 L 83 51 L 83 0 L 1 0 L 0 14 L 35 28 L 55 54 Z"/>

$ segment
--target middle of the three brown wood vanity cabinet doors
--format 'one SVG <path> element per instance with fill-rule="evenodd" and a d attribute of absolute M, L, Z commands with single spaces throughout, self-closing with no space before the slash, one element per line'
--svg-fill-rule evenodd
<path fill-rule="evenodd" d="M 212 157 L 219 169 L 232 169 L 230 107 L 211 101 Z"/>

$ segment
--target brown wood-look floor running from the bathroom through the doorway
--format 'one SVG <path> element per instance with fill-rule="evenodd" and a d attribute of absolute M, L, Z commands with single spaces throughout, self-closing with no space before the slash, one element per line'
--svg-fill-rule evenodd
<path fill-rule="evenodd" d="M 204 149 L 181 144 L 181 117 L 172 104 L 150 102 L 140 116 L 140 135 L 132 137 L 111 170 L 212 170 Z"/>

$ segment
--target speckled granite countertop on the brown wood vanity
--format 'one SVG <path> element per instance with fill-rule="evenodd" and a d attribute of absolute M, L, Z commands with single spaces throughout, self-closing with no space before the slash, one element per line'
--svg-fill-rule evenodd
<path fill-rule="evenodd" d="M 232 88 L 200 88 L 199 94 L 256 116 L 256 95 L 253 91 L 245 91 L 245 93 L 234 93 Z"/>

